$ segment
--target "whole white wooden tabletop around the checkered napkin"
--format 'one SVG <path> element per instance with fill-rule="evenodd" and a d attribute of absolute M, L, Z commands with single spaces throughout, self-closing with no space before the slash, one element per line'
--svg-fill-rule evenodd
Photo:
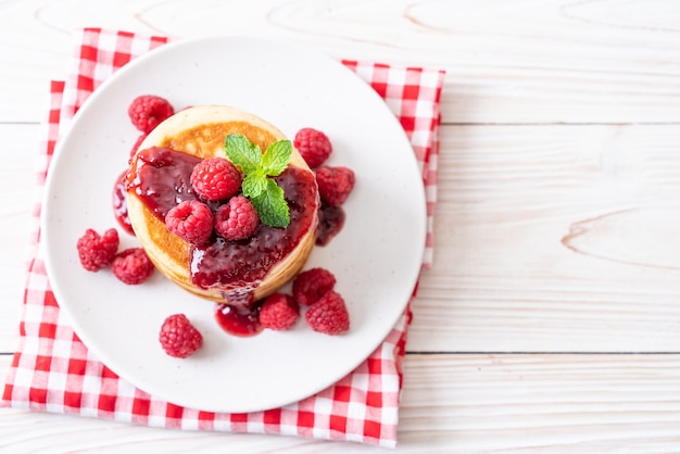
<path fill-rule="evenodd" d="M 680 452 L 678 1 L 0 2 L 2 377 L 38 122 L 85 26 L 446 70 L 398 451 Z M 123 450 L 376 451 L 0 411 L 1 452 Z"/>

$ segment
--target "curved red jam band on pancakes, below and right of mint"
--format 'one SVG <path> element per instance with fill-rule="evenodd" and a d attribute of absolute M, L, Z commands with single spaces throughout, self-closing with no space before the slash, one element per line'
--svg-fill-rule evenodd
<path fill-rule="evenodd" d="M 221 237 L 206 247 L 194 247 L 191 253 L 191 280 L 198 287 L 228 289 L 251 285 L 255 287 L 292 251 L 308 226 L 314 224 L 316 181 L 311 172 L 288 167 L 276 181 L 284 190 L 290 212 L 286 228 L 260 224 L 255 234 L 239 241 Z"/>

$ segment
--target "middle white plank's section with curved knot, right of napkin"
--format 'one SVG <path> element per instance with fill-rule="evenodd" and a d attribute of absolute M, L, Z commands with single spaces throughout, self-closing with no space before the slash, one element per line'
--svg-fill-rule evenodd
<path fill-rule="evenodd" d="M 412 351 L 680 351 L 680 130 L 444 128 Z"/>

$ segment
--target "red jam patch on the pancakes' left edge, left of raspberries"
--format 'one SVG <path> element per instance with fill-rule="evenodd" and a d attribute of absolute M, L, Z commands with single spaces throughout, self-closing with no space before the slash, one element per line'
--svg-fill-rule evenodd
<path fill-rule="evenodd" d="M 164 220 L 172 207 L 197 199 L 190 178 L 193 166 L 200 161 L 200 157 L 169 148 L 142 150 L 130 169 L 127 189 L 135 189 L 142 203 Z"/>

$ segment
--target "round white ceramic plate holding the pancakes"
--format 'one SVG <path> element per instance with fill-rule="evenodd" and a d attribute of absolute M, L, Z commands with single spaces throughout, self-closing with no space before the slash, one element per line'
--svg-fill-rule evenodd
<path fill-rule="evenodd" d="M 290 331 L 252 338 L 225 333 L 213 303 L 159 273 L 126 286 L 109 270 L 85 272 L 76 253 L 86 228 L 117 227 L 115 178 L 138 133 L 127 106 L 138 94 L 167 98 L 176 109 L 229 104 L 255 113 L 289 137 L 305 126 L 333 143 L 329 165 L 354 169 L 347 223 L 306 268 L 337 276 L 352 327 L 344 336 Z M 61 139 L 50 167 L 43 212 L 47 269 L 60 306 L 85 344 L 112 370 L 152 395 L 214 412 L 272 408 L 310 396 L 363 362 L 407 303 L 424 251 L 425 197 L 408 140 L 386 103 L 340 63 L 267 40 L 218 37 L 166 45 L 103 84 Z M 138 245 L 121 231 L 122 248 Z M 165 355 L 163 319 L 185 313 L 204 346 L 187 360 Z"/>

